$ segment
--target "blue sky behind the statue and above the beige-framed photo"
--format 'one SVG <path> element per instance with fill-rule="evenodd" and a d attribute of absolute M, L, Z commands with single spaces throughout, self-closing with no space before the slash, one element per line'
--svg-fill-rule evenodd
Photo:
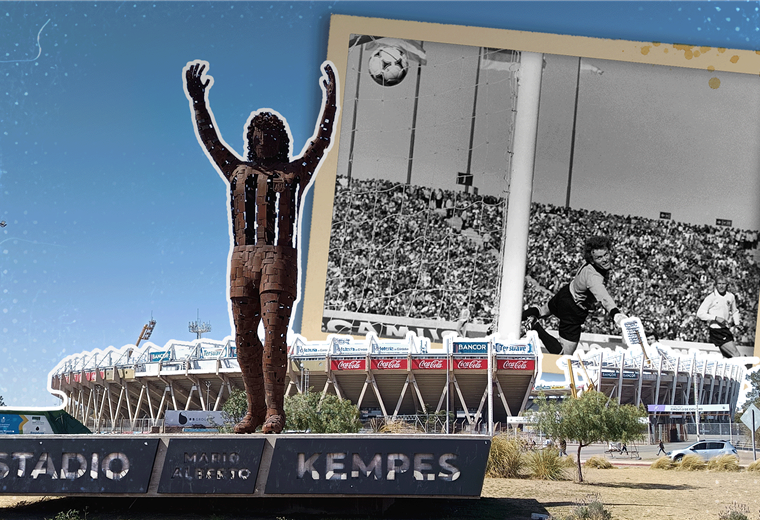
<path fill-rule="evenodd" d="M 196 312 L 209 336 L 230 334 L 226 190 L 193 133 L 188 61 L 211 63 L 231 146 L 242 152 L 248 114 L 271 107 L 298 151 L 333 13 L 753 49 L 756 5 L 0 3 L 0 395 L 56 404 L 46 378 L 62 357 L 133 343 L 151 313 L 159 345 L 192 339 Z"/>

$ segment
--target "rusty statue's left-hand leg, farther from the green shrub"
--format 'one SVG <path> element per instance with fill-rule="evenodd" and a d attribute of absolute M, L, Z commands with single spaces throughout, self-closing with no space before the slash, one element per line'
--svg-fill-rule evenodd
<path fill-rule="evenodd" d="M 232 315 L 235 320 L 238 364 L 248 401 L 248 412 L 243 420 L 235 425 L 235 433 L 253 433 L 266 418 L 264 375 L 261 365 L 264 347 L 258 335 L 261 321 L 259 299 L 232 298 Z"/>

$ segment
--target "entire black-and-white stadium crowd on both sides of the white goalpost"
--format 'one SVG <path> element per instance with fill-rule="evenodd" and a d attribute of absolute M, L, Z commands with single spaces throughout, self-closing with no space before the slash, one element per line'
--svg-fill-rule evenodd
<path fill-rule="evenodd" d="M 493 323 L 498 313 L 504 199 L 382 179 L 336 185 L 325 308 Z M 754 343 L 760 270 L 757 231 L 533 203 L 524 303 L 546 302 L 582 265 L 590 235 L 613 242 L 608 288 L 618 307 L 660 339 L 707 341 L 696 317 L 714 275 L 732 280 Z M 549 322 L 549 328 L 556 323 Z M 586 332 L 618 334 L 599 309 Z"/>

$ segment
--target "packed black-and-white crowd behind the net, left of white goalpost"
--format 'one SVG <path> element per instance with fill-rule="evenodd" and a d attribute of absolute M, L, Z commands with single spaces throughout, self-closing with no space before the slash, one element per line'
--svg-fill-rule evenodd
<path fill-rule="evenodd" d="M 490 323 L 500 278 L 503 201 L 341 179 L 325 308 Z M 467 230 L 471 230 L 469 233 Z"/>

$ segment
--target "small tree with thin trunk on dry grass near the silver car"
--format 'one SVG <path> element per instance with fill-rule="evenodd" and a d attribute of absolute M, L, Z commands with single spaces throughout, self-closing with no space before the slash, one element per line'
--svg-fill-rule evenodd
<path fill-rule="evenodd" d="M 533 412 L 536 426 L 555 439 L 578 441 L 578 482 L 583 482 L 581 449 L 594 442 L 630 442 L 644 436 L 647 426 L 639 419 L 647 416 L 644 408 L 619 405 L 601 392 L 587 391 L 577 399 L 549 401 L 541 395 L 538 412 Z"/>

